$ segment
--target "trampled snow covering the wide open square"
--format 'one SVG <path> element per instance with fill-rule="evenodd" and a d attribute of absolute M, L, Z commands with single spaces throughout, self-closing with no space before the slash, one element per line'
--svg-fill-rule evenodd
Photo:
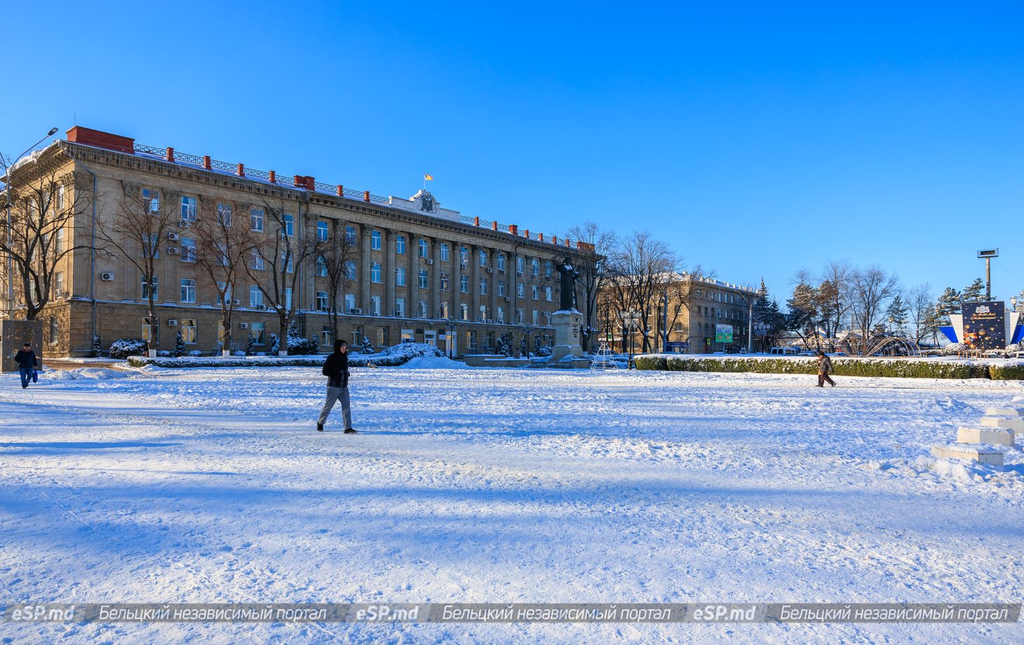
<path fill-rule="evenodd" d="M 1018 382 L 354 370 L 0 382 L 4 602 L 1020 602 Z M 1018 625 L 0 624 L 17 642 L 1020 642 Z M 7 642 L 4 640 L 3 642 Z"/>

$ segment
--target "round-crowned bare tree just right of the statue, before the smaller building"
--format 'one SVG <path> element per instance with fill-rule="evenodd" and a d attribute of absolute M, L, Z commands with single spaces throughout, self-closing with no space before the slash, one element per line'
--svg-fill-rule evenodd
<path fill-rule="evenodd" d="M 651 327 L 657 298 L 679 278 L 680 259 L 646 230 L 635 231 L 612 253 L 609 284 L 622 311 L 640 312 L 641 351 L 651 349 Z"/>

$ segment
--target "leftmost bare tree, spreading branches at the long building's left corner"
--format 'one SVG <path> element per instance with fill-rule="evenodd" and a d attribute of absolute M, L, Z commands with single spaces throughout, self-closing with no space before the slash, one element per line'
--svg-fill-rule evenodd
<path fill-rule="evenodd" d="M 72 173 L 37 155 L 34 164 L 4 166 L 3 205 L 9 200 L 10 225 L 0 235 L 0 253 L 9 256 L 12 275 L 7 275 L 12 291 L 25 305 L 25 319 L 35 320 L 56 294 L 57 267 L 78 249 L 89 245 L 70 245 L 76 217 L 92 208 L 95 196 Z M 13 317 L 14 312 L 8 315 Z"/>

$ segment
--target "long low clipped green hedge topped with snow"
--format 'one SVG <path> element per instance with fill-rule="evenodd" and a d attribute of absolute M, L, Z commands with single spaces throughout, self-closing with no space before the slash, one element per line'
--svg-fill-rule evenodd
<path fill-rule="evenodd" d="M 727 372 L 754 374 L 817 374 L 816 358 L 684 358 L 641 356 L 638 370 L 668 372 Z M 969 362 L 833 358 L 837 376 L 901 377 L 910 379 L 1024 380 L 1024 363 L 986 365 Z"/>

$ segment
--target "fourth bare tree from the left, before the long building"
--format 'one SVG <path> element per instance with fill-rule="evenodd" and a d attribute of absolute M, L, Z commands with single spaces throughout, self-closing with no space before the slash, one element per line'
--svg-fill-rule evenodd
<path fill-rule="evenodd" d="M 292 204 L 284 196 L 260 199 L 264 234 L 259 235 L 245 270 L 266 299 L 266 306 L 278 314 L 279 351 L 288 355 L 288 328 L 298 309 L 296 286 L 303 263 L 316 252 L 315 242 L 305 240 L 298 230 Z M 298 239 L 297 239 L 298 238 Z"/>

